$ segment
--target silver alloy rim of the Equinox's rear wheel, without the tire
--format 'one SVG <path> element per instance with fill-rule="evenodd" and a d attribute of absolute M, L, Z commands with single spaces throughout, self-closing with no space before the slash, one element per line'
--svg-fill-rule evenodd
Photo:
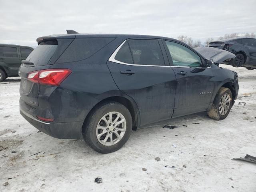
<path fill-rule="evenodd" d="M 105 146 L 118 143 L 126 132 L 126 119 L 120 112 L 109 112 L 98 122 L 96 136 Z"/>

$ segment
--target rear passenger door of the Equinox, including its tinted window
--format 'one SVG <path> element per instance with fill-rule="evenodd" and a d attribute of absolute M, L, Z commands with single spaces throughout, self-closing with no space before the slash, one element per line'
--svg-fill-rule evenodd
<path fill-rule="evenodd" d="M 162 50 L 158 39 L 130 39 L 107 63 L 118 88 L 138 105 L 140 125 L 168 119 L 173 113 L 176 78 Z"/>

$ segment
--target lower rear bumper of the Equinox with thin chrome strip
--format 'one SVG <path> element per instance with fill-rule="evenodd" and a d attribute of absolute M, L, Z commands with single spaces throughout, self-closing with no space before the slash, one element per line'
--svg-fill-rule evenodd
<path fill-rule="evenodd" d="M 49 123 L 36 119 L 33 115 L 20 108 L 20 114 L 35 128 L 58 139 L 82 138 L 83 122 Z"/>

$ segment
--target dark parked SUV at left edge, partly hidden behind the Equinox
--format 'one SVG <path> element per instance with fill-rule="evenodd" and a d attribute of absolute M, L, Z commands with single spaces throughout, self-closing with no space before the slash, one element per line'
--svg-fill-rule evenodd
<path fill-rule="evenodd" d="M 0 82 L 18 76 L 21 61 L 33 51 L 32 47 L 0 44 Z"/>

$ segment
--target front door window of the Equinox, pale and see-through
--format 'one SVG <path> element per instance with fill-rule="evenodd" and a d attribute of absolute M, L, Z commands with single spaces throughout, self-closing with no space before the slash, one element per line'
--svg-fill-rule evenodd
<path fill-rule="evenodd" d="M 174 66 L 200 67 L 201 58 L 182 44 L 165 41 Z"/>

